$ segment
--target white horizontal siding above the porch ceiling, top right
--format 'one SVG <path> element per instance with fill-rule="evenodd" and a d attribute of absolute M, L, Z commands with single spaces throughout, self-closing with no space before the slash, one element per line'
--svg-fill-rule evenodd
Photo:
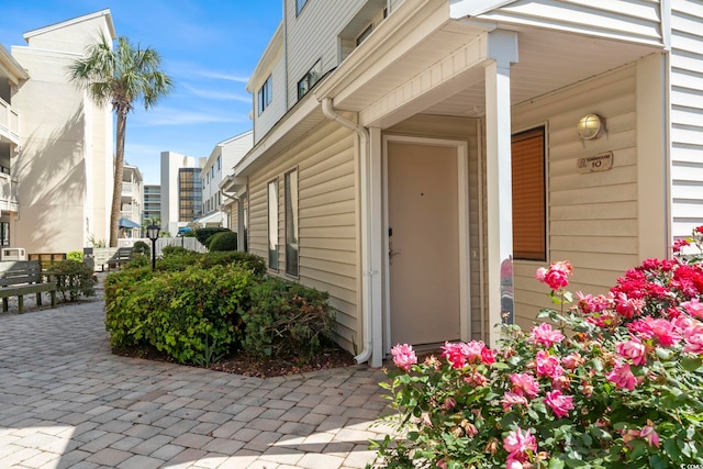
<path fill-rule="evenodd" d="M 479 18 L 643 44 L 661 44 L 659 1 L 521 0 Z"/>

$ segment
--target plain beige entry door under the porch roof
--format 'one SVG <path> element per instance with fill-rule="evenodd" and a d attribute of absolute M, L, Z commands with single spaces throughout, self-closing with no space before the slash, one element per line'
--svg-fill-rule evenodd
<path fill-rule="evenodd" d="M 461 336 L 457 152 L 388 143 L 391 346 Z"/>

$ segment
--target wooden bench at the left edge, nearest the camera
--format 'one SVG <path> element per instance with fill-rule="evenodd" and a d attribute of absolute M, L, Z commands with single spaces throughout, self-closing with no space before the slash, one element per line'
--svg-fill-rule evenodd
<path fill-rule="evenodd" d="M 52 295 L 52 308 L 56 306 L 56 283 L 44 282 L 38 260 L 7 260 L 0 263 L 0 298 L 2 311 L 8 311 L 8 299 L 18 297 L 20 313 L 24 311 L 24 295 L 36 293 L 36 305 L 42 305 L 42 292 Z"/>

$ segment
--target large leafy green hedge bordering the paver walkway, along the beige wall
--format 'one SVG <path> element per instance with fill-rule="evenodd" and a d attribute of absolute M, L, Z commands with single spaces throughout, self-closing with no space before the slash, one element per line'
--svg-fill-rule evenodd
<path fill-rule="evenodd" d="M 105 279 L 105 326 L 115 349 L 154 346 L 178 362 L 210 365 L 242 348 L 304 362 L 332 343 L 327 293 L 265 277 L 249 253 L 170 254 Z"/>

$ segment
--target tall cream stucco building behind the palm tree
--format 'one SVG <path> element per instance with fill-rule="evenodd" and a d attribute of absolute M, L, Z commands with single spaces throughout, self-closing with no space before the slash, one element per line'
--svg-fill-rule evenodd
<path fill-rule="evenodd" d="M 116 37 L 110 10 L 30 31 L 11 56 L 0 48 L 2 243 L 66 253 L 109 237 L 112 110 L 66 74 L 100 34 Z"/>

